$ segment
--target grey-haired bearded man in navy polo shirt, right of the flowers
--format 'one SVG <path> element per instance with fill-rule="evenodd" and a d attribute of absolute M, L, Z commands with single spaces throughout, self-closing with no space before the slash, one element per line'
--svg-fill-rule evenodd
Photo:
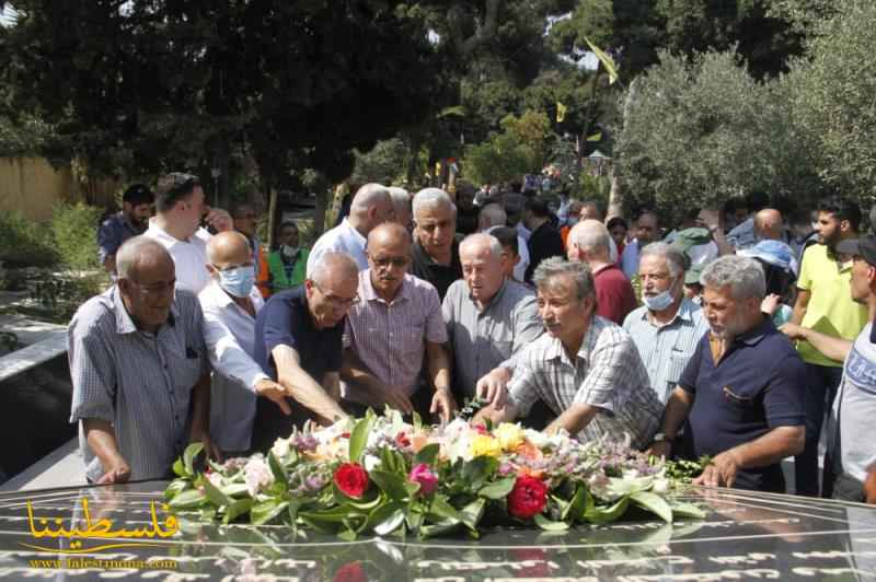
<path fill-rule="evenodd" d="M 700 280 L 712 330 L 666 405 L 652 452 L 668 455 L 687 419 L 687 453 L 713 457 L 694 482 L 784 492 L 780 463 L 804 446 L 806 368 L 760 311 L 765 282 L 757 261 L 721 257 Z"/>

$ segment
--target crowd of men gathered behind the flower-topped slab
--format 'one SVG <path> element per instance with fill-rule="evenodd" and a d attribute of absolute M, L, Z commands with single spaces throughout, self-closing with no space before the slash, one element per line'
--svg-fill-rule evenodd
<path fill-rule="evenodd" d="M 794 456 L 796 493 L 876 502 L 876 238 L 855 203 L 822 200 L 805 232 L 754 193 L 665 233 L 652 211 L 458 196 L 367 184 L 309 252 L 288 222 L 267 253 L 252 207 L 207 208 L 195 176 L 131 187 L 100 234 L 115 284 L 69 326 L 88 478 L 368 407 L 447 422 L 476 396 L 473 422 L 708 455 L 703 485 L 784 492 Z"/>

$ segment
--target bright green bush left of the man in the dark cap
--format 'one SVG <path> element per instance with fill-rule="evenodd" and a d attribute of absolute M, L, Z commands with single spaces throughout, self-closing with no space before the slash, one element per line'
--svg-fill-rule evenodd
<path fill-rule="evenodd" d="M 103 210 L 82 202 L 60 202 L 51 214 L 51 235 L 61 264 L 73 270 L 101 268 L 97 226 Z"/>

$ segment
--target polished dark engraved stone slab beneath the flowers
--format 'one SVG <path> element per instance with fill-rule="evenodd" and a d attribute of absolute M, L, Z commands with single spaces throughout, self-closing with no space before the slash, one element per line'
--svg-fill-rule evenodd
<path fill-rule="evenodd" d="M 390 537 L 344 543 L 311 532 L 296 538 L 285 526 L 238 525 L 185 526 L 168 538 L 122 537 L 122 531 L 173 529 L 162 509 L 162 489 L 163 484 L 151 482 L 0 496 L 0 577 L 446 582 L 876 579 L 876 509 L 860 504 L 692 489 L 684 499 L 702 504 L 707 517 L 673 525 L 646 517 L 562 534 L 503 529 L 476 540 L 460 536 L 427 542 Z M 92 531 L 108 529 L 107 537 L 58 535 L 60 528 L 85 528 L 83 499 Z M 108 521 L 101 522 L 104 519 Z M 143 540 L 148 545 L 95 550 Z"/>

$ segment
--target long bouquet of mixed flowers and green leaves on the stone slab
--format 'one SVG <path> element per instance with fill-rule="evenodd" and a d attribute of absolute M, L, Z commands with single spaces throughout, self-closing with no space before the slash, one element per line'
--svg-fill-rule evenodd
<path fill-rule="evenodd" d="M 165 496 L 183 517 L 255 525 L 285 523 L 342 539 L 359 535 L 420 538 L 492 525 L 562 531 L 607 523 L 627 510 L 672 522 L 702 517 L 676 502 L 662 462 L 627 443 L 580 443 L 503 422 L 473 427 L 406 423 L 369 411 L 327 428 L 306 424 L 278 439 L 267 456 L 208 462 L 198 473 L 192 444 L 173 466 Z"/>

